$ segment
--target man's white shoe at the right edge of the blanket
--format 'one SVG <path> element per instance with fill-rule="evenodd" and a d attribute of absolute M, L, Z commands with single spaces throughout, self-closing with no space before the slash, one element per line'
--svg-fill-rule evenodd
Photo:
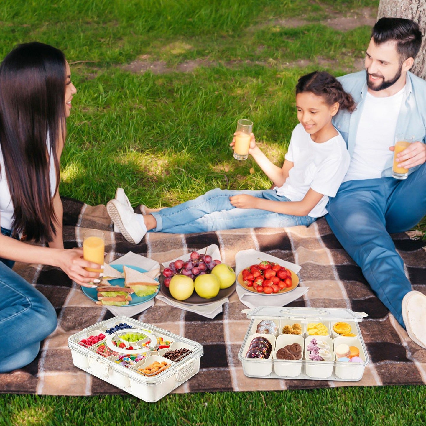
<path fill-rule="evenodd" d="M 426 348 L 426 296 L 412 290 L 402 300 L 402 317 L 413 342 Z"/>

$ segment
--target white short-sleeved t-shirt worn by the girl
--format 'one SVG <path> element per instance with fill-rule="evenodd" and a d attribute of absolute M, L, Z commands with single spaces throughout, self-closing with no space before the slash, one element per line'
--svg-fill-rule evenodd
<path fill-rule="evenodd" d="M 309 188 L 324 194 L 318 204 L 308 213 L 311 217 L 324 216 L 328 197 L 334 197 L 348 171 L 351 158 L 345 141 L 339 133 L 322 144 L 311 139 L 302 124 L 291 134 L 285 159 L 294 163 L 285 183 L 277 188 L 279 196 L 291 201 L 301 201 Z"/>

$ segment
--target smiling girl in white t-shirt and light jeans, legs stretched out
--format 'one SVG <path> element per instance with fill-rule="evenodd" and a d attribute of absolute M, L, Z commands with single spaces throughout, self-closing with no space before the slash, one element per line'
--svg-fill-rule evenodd
<path fill-rule="evenodd" d="M 249 154 L 274 189 L 233 191 L 218 188 L 195 200 L 158 212 L 133 212 L 124 192 L 107 203 L 109 216 L 127 241 L 138 244 L 148 230 L 194 233 L 247 227 L 308 226 L 325 215 L 349 167 L 345 141 L 331 124 L 339 108 L 352 112 L 354 100 L 327 72 L 312 72 L 296 85 L 297 118 L 282 167 L 273 164 L 251 134 Z M 235 143 L 233 139 L 230 144 Z M 121 194 L 121 195 L 120 195 Z M 118 195 L 118 199 L 117 199 Z"/>

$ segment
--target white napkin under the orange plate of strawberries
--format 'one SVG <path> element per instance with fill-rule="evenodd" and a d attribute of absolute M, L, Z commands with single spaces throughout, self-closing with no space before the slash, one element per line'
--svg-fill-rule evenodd
<path fill-rule="evenodd" d="M 291 262 L 286 262 L 285 260 L 279 259 L 278 257 L 271 256 L 267 253 L 262 253 L 260 251 L 253 250 L 242 250 L 236 253 L 235 255 L 235 273 L 238 274 L 250 265 L 255 265 L 261 260 L 269 260 L 271 262 L 278 263 L 278 265 L 285 266 L 285 268 L 290 269 L 291 271 L 298 273 L 301 266 L 295 265 Z M 274 294 L 273 296 L 269 295 L 257 295 L 253 292 L 246 290 L 237 282 L 237 295 L 240 299 L 240 302 L 246 305 L 250 309 L 258 308 L 259 306 L 285 306 L 293 300 L 299 299 L 308 292 L 309 287 L 296 287 L 294 290 L 283 293 L 283 294 Z"/>

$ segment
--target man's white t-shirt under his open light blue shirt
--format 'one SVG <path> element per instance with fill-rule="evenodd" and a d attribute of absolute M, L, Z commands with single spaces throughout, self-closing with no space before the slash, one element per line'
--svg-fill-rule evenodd
<path fill-rule="evenodd" d="M 393 146 L 405 86 L 395 95 L 377 98 L 367 92 L 358 124 L 354 151 L 344 182 L 382 176 Z"/>

